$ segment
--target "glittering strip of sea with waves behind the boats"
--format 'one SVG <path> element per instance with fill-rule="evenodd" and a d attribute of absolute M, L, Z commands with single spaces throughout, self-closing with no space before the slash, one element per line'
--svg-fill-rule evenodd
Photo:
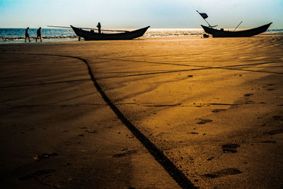
<path fill-rule="evenodd" d="M 107 30 L 135 30 L 129 28 L 112 28 Z M 229 28 L 225 29 L 229 30 Z M 233 30 L 233 29 L 230 29 Z M 241 30 L 241 29 L 240 29 Z M 37 28 L 30 28 L 28 33 L 31 42 L 35 42 Z M 149 28 L 141 38 L 161 38 L 179 36 L 202 36 L 204 30 L 201 28 Z M 283 34 L 283 29 L 269 29 L 264 35 Z M 71 28 L 42 28 L 42 40 L 44 42 L 78 40 Z M 25 41 L 25 28 L 0 28 L 0 43 L 16 43 Z"/>

